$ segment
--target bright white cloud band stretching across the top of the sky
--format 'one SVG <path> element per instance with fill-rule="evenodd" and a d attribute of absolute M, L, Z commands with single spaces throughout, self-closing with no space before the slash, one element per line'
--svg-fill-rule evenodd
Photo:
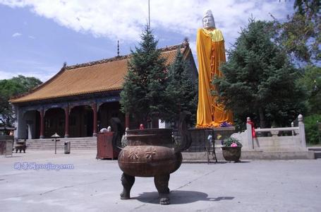
<path fill-rule="evenodd" d="M 148 19 L 147 0 L 0 0 L 0 4 L 28 7 L 33 13 L 51 18 L 66 28 L 111 40 L 139 40 Z M 291 1 L 268 0 L 151 0 L 151 25 L 152 28 L 180 33 L 182 37 L 194 36 L 202 26 L 203 12 L 210 8 L 224 37 L 233 40 L 251 14 L 260 20 L 270 20 L 269 13 L 276 18 L 285 18 L 291 13 L 292 4 Z"/>

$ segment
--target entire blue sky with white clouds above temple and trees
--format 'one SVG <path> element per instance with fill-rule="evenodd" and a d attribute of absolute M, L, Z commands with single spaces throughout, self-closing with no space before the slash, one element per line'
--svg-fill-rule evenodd
<path fill-rule="evenodd" d="M 150 0 L 151 27 L 159 47 L 190 40 L 195 61 L 196 31 L 212 9 L 226 49 L 248 18 L 279 20 L 293 1 Z M 22 74 L 47 81 L 68 65 L 130 53 L 148 19 L 147 0 L 0 0 L 0 79 Z"/>

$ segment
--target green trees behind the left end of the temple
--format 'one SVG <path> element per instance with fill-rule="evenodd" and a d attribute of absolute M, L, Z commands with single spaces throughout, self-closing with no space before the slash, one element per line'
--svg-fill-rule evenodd
<path fill-rule="evenodd" d="M 14 121 L 14 114 L 12 107 L 8 100 L 28 90 L 40 85 L 42 81 L 35 77 L 17 76 L 11 79 L 4 79 L 0 81 L 0 116 L 2 117 L 6 126 L 12 126 Z"/>

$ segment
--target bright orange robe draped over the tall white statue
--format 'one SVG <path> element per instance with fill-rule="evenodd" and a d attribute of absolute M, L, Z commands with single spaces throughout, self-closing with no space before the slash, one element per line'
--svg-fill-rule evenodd
<path fill-rule="evenodd" d="M 217 127 L 223 122 L 233 124 L 231 111 L 216 102 L 211 94 L 214 75 L 222 76 L 219 65 L 226 61 L 224 38 L 220 30 L 199 29 L 196 38 L 198 53 L 198 114 L 196 127 Z"/>

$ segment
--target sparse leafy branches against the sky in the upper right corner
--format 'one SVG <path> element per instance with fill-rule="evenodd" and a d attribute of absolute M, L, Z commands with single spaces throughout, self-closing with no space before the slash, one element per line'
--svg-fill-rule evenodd
<path fill-rule="evenodd" d="M 320 0 L 296 0 L 295 13 L 286 22 L 275 20 L 275 38 L 293 60 L 308 64 L 320 61 L 320 6 Z"/>

